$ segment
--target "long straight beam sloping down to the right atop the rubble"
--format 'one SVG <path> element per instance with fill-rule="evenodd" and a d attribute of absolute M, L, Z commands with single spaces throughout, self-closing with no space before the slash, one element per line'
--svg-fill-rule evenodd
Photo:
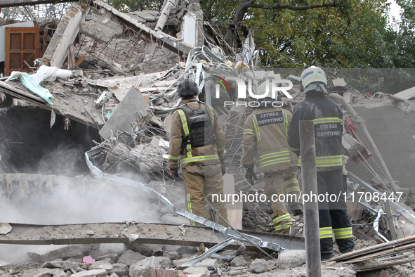
<path fill-rule="evenodd" d="M 136 30 L 138 34 L 143 34 L 150 41 L 155 42 L 161 46 L 166 47 L 174 53 L 178 53 L 179 56 L 187 55 L 192 49 L 195 49 L 195 46 L 185 43 L 181 39 L 177 39 L 169 34 L 166 34 L 161 31 L 154 31 L 149 27 L 145 26 L 143 23 L 138 22 L 138 20 L 132 18 L 126 13 L 121 13 L 112 6 L 104 3 L 100 0 L 93 1 L 93 4 L 99 6 L 100 8 L 105 8 L 107 11 L 115 15 L 121 22 L 129 26 L 131 29 Z"/>

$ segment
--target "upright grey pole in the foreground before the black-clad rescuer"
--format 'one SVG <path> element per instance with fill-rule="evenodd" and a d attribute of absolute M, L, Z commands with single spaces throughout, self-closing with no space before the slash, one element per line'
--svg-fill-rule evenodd
<path fill-rule="evenodd" d="M 321 277 L 314 123 L 310 120 L 300 121 L 300 149 L 303 195 L 309 196 L 308 201 L 304 202 L 305 264 L 307 266 L 307 277 Z M 316 195 L 316 197 L 312 198 L 312 195 Z"/>

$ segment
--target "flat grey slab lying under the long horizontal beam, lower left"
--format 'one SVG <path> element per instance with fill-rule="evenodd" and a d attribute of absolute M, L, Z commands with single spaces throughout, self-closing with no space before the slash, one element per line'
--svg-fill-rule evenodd
<path fill-rule="evenodd" d="M 68 259 L 79 255 L 84 255 L 91 250 L 96 250 L 100 245 L 67 245 L 65 247 L 59 247 L 58 249 L 39 254 L 36 252 L 27 252 L 27 256 L 34 262 L 40 262 L 42 264 L 53 261 L 54 259 Z"/>

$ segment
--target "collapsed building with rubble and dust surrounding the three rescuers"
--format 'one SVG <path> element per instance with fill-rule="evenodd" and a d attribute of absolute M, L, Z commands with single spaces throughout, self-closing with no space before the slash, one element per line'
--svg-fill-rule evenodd
<path fill-rule="evenodd" d="M 225 55 L 230 49 L 203 22 L 197 1 L 165 1 L 161 12 L 132 13 L 81 1 L 59 22 L 39 21 L 32 22 L 35 31 L 5 27 L 11 39 L 22 31 L 22 37 L 34 34 L 27 36 L 33 49 L 44 47 L 30 58 L 8 51 L 0 82 L 0 243 L 10 244 L 0 245 L 1 276 L 305 276 L 301 218 L 294 236 L 277 235 L 268 205 L 237 201 L 228 204 L 235 230 L 220 228 L 185 210 L 183 183 L 167 174 L 176 86 L 191 77 L 223 124 L 225 193 L 263 193 L 263 179 L 252 186 L 240 162 L 243 124 L 253 107 L 239 98 L 235 82 L 226 90 L 209 79 L 232 76 L 255 86 L 289 77 L 256 68 L 253 32 L 244 30 L 240 53 Z M 13 55 L 19 63 L 11 62 Z M 36 60 L 43 67 L 32 66 Z M 12 71 L 31 74 L 11 79 Z M 324 262 L 322 273 L 364 276 L 385 268 L 386 276 L 411 276 L 415 214 L 401 196 L 411 205 L 414 92 L 374 98 L 345 81 L 334 79 L 330 91 L 349 118 L 343 134 L 348 190 L 368 197 L 349 195 L 356 251 Z M 292 110 L 303 96 L 296 85 L 289 94 L 294 98 L 283 102 Z M 369 199 L 374 193 L 388 197 Z M 389 198 L 392 193 L 400 199 Z M 187 226 L 186 218 L 204 227 Z M 49 244 L 68 246 L 8 257 L 18 245 Z M 31 262 L 21 262 L 28 257 Z"/>

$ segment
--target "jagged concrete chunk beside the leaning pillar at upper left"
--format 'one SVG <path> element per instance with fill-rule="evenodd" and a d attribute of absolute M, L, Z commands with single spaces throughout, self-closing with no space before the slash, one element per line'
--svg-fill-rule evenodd
<path fill-rule="evenodd" d="M 105 11 L 105 10 L 104 10 Z M 79 32 L 95 39 L 102 44 L 111 41 L 114 37 L 120 36 L 124 31 L 123 26 L 113 18 L 111 13 L 94 13 L 92 20 L 82 21 L 79 25 Z"/>

